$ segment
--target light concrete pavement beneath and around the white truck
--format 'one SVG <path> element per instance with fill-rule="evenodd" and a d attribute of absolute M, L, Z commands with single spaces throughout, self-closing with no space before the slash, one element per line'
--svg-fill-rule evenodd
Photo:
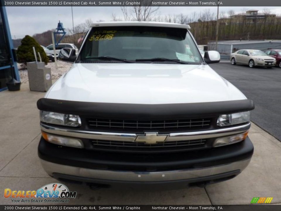
<path fill-rule="evenodd" d="M 40 127 L 36 101 L 43 96 L 41 92 L 30 92 L 28 84 L 18 92 L 0 93 L 0 191 L 37 190 L 56 182 L 41 168 L 37 156 Z M 172 191 L 91 190 L 64 183 L 78 193 L 68 204 L 249 204 L 253 197 L 273 197 L 272 203 L 281 203 L 281 143 L 255 124 L 249 137 L 255 146 L 252 161 L 229 181 Z M 12 204 L 11 198 L 2 195 L 0 204 Z"/>

